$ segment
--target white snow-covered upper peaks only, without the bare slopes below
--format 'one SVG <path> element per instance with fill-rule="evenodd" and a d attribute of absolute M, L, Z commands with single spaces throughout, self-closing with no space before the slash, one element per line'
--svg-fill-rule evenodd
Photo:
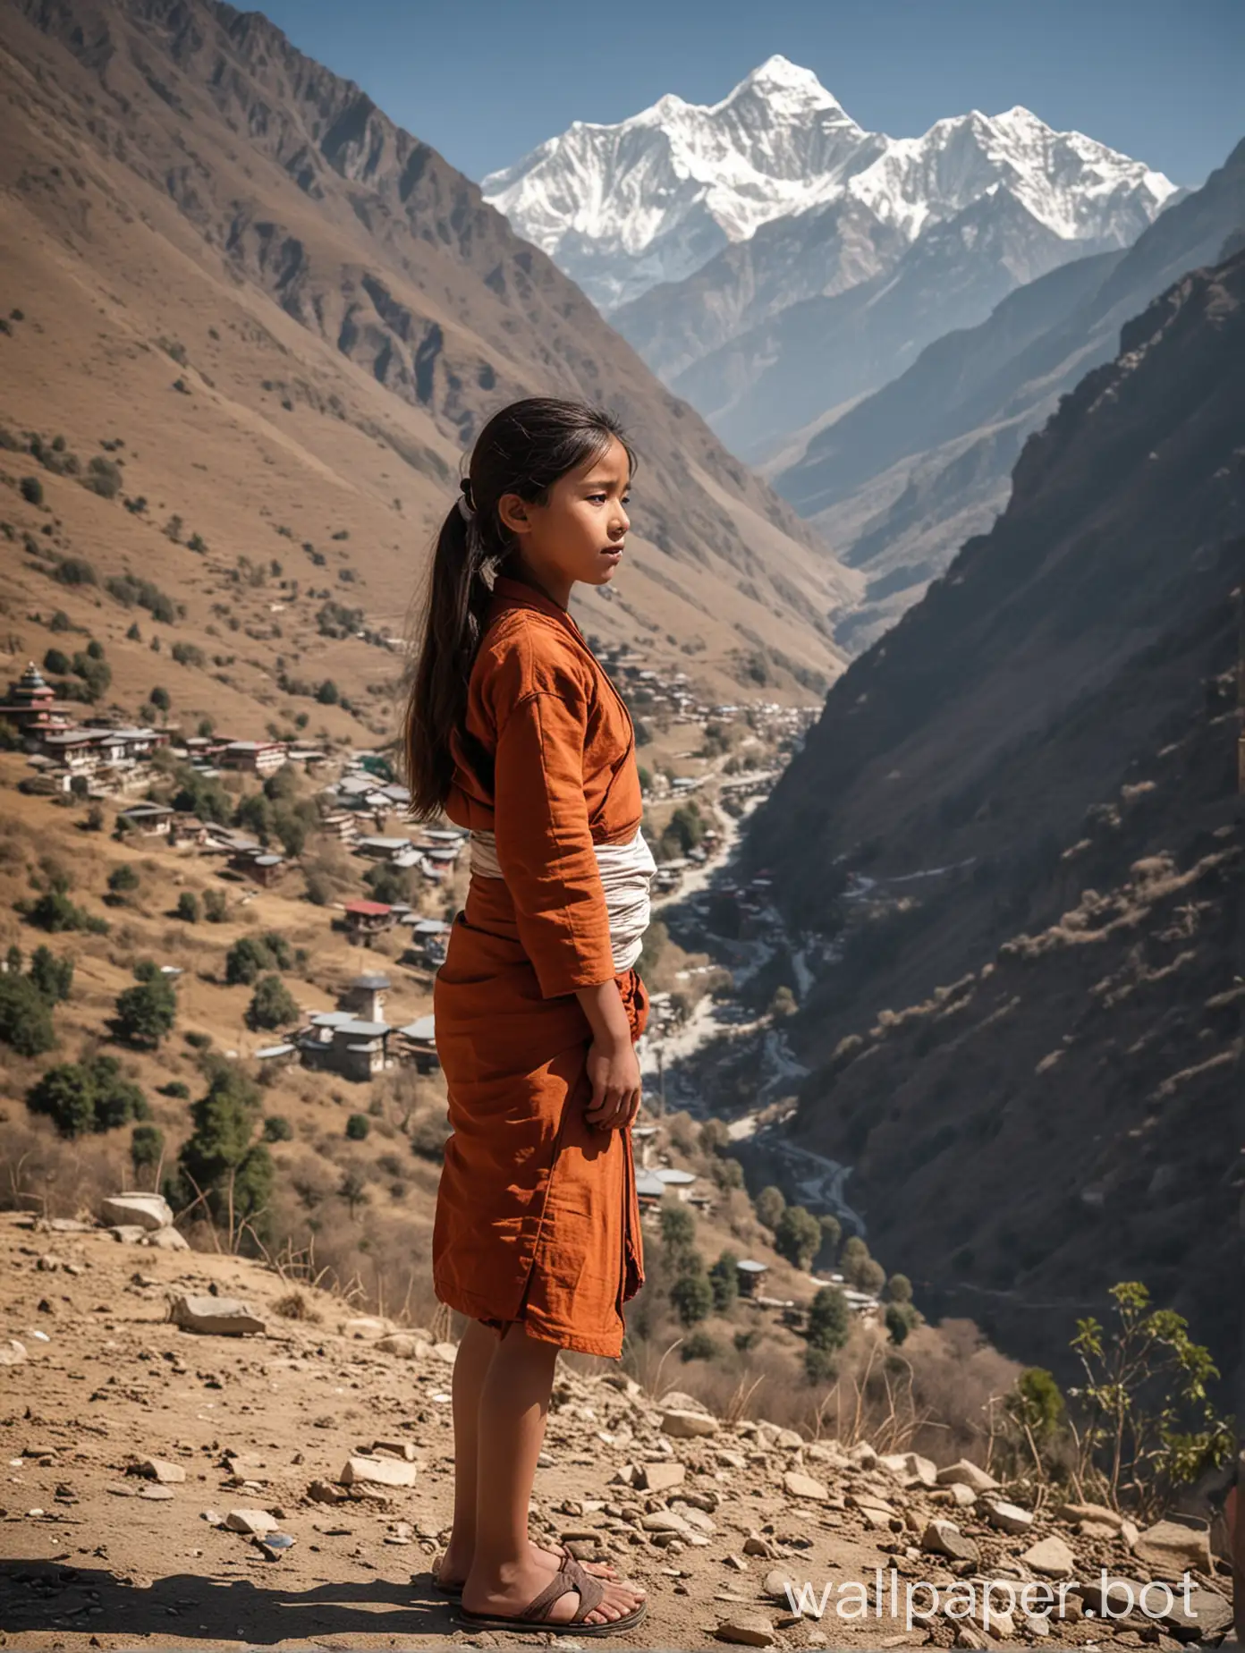
<path fill-rule="evenodd" d="M 483 180 L 484 197 L 605 311 L 780 218 L 856 202 L 911 245 L 995 185 L 1086 250 L 1128 245 L 1174 188 L 1018 104 L 937 121 L 921 137 L 866 132 L 779 53 L 716 104 L 666 93 L 612 126 L 577 121 Z"/>

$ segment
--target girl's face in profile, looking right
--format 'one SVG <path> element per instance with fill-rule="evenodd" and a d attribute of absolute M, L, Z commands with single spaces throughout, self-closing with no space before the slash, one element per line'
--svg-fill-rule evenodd
<path fill-rule="evenodd" d="M 570 587 L 608 585 L 622 562 L 632 468 L 617 436 L 597 460 L 560 476 L 544 504 L 503 494 L 498 514 L 519 542 L 524 572 L 564 608 Z"/>

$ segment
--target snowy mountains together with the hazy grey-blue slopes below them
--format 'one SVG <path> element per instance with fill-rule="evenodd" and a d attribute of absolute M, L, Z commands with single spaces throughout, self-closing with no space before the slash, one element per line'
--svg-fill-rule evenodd
<path fill-rule="evenodd" d="M 1176 193 L 1022 107 L 866 132 L 782 56 L 718 104 L 575 122 L 483 190 L 747 458 Z"/>

